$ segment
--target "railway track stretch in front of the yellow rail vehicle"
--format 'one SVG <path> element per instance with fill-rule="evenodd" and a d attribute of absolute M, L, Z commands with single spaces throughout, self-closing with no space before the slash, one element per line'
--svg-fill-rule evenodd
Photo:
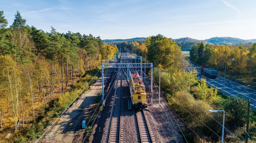
<path fill-rule="evenodd" d="M 149 125 L 147 113 L 145 113 L 144 110 L 134 111 L 134 113 L 136 114 L 135 122 L 137 121 L 136 130 L 139 131 L 140 136 L 140 140 L 138 139 L 138 142 L 156 143 L 151 126 Z"/>

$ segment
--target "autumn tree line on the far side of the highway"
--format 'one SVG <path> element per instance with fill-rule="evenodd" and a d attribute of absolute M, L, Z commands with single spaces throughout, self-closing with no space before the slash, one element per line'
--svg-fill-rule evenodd
<path fill-rule="evenodd" d="M 209 45 L 199 42 L 190 50 L 191 61 L 199 65 L 207 65 L 224 74 L 226 63 L 226 75 L 242 80 L 254 82 L 254 61 L 256 60 L 256 43 L 240 45 Z M 253 75 L 253 77 L 252 77 Z"/>

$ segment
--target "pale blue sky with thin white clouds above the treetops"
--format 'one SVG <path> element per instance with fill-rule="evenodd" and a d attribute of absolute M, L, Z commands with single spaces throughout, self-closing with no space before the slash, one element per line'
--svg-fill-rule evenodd
<path fill-rule="evenodd" d="M 0 10 L 8 26 L 18 10 L 37 29 L 101 39 L 256 39 L 256 0 L 1 0 Z"/>

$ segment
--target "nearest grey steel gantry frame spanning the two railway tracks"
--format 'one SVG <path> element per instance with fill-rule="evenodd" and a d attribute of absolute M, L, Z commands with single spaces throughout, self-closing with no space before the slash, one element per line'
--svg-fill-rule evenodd
<path fill-rule="evenodd" d="M 130 68 L 151 68 L 151 104 L 153 101 L 153 63 L 102 63 L 102 106 L 104 104 L 104 68 L 127 68 L 127 80 L 129 80 Z"/>

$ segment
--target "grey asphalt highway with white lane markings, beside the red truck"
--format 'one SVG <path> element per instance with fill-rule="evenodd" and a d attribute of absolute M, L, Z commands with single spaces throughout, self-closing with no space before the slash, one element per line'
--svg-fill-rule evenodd
<path fill-rule="evenodd" d="M 193 65 L 192 63 L 191 65 L 193 66 L 192 68 L 195 68 L 198 71 L 198 79 L 201 79 L 203 75 L 200 73 L 200 67 Z M 223 93 L 224 77 L 218 76 L 216 79 L 206 77 L 206 82 L 208 85 L 217 88 L 220 92 Z M 246 99 L 250 99 L 250 101 L 256 101 L 256 90 L 226 78 L 224 85 L 224 94 L 235 97 L 238 95 L 238 98 L 239 96 L 243 96 Z M 251 103 L 250 107 L 256 111 L 256 102 Z"/>

